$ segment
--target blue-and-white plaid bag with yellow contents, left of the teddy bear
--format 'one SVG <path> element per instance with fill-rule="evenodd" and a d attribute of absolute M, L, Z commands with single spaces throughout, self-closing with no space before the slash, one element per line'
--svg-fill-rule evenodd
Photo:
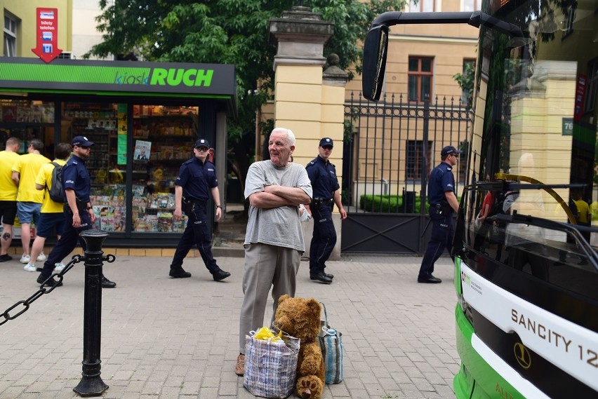
<path fill-rule="evenodd" d="M 300 339 L 283 335 L 282 340 L 245 336 L 243 386 L 263 398 L 286 398 L 295 388 Z"/>

